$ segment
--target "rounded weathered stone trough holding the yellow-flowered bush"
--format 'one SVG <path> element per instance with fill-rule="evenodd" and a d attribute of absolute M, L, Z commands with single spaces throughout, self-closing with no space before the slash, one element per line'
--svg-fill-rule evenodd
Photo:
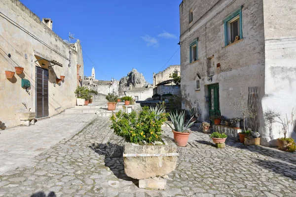
<path fill-rule="evenodd" d="M 177 145 L 163 138 L 164 145 L 137 145 L 125 143 L 123 151 L 124 172 L 134 179 L 164 176 L 176 168 L 179 153 Z"/>

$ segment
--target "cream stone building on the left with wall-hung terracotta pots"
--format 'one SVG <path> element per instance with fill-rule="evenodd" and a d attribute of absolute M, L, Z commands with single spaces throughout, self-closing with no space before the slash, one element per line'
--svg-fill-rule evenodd
<path fill-rule="evenodd" d="M 74 91 L 83 78 L 79 40 L 67 44 L 52 31 L 50 19 L 40 21 L 19 0 L 1 0 L 0 19 L 1 129 L 20 125 L 23 112 L 43 118 L 74 107 Z M 16 66 L 23 73 L 8 79 L 5 70 L 15 72 Z M 61 76 L 65 79 L 59 82 Z M 31 86 L 23 88 L 22 81 Z"/>

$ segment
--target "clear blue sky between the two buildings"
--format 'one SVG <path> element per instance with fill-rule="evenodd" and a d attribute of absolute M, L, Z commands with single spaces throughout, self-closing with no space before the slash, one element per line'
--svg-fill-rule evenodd
<path fill-rule="evenodd" d="M 119 80 L 136 68 L 150 83 L 153 72 L 180 64 L 179 49 L 164 66 L 179 48 L 181 1 L 21 0 L 40 19 L 51 18 L 62 39 L 71 32 L 81 41 L 97 79 Z M 84 53 L 83 61 L 90 76 L 93 63 Z"/>

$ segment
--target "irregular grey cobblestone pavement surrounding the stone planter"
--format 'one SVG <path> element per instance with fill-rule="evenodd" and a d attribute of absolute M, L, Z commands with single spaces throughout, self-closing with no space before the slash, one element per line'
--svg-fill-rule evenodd
<path fill-rule="evenodd" d="M 209 134 L 200 131 L 179 149 L 166 191 L 139 189 L 137 180 L 124 174 L 122 148 L 112 146 L 118 137 L 108 126 L 108 118 L 100 117 L 35 157 L 35 166 L 0 176 L 0 196 L 30 197 L 44 191 L 57 197 L 296 197 L 295 154 L 232 140 L 217 149 Z"/>

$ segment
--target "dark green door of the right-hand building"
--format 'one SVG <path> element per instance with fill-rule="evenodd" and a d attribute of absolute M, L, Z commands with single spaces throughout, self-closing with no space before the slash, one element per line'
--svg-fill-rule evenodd
<path fill-rule="evenodd" d="M 221 115 L 219 103 L 219 84 L 209 85 L 209 116 Z"/>

